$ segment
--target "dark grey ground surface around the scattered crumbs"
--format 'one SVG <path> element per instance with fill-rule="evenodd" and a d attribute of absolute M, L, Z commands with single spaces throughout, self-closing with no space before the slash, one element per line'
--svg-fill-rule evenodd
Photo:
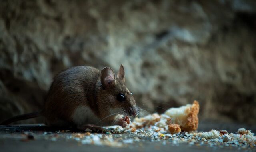
<path fill-rule="evenodd" d="M 236 132 L 238 128 L 246 128 L 256 132 L 256 126 L 246 126 L 239 124 L 218 124 L 214 123 L 204 123 L 201 122 L 198 128 L 198 131 L 210 131 L 212 128 L 216 130 L 227 130 L 228 132 Z M 65 130 L 65 128 L 63 128 Z M 234 152 L 234 151 L 256 151 L 256 148 L 240 148 L 232 146 L 209 146 L 180 143 L 173 144 L 172 140 L 160 140 L 152 141 L 149 138 L 145 137 L 143 141 L 134 142 L 128 144 L 128 146 L 113 147 L 113 146 L 104 146 L 104 145 L 95 145 L 95 144 L 81 144 L 80 142 L 74 139 L 68 139 L 73 131 L 70 132 L 58 132 L 59 128 L 49 128 L 39 124 L 33 125 L 21 125 L 21 126 L 0 126 L 0 151 L 1 152 L 101 152 L 101 151 L 111 151 L 111 152 L 134 152 L 134 151 L 162 151 L 162 152 L 201 152 L 201 151 L 225 151 L 225 152 Z M 62 129 L 61 129 L 62 130 Z M 49 135 L 48 135 L 49 133 Z M 28 136 L 32 134 L 32 136 Z M 48 136 L 55 136 L 58 134 L 58 140 L 52 140 Z M 100 134 L 100 133 L 99 133 Z M 56 135 L 57 136 L 57 135 Z M 104 135 L 105 136 L 105 135 Z M 108 134 L 106 135 L 108 136 Z M 113 138 L 136 138 L 136 135 L 131 135 L 129 133 L 123 134 L 112 134 Z"/>

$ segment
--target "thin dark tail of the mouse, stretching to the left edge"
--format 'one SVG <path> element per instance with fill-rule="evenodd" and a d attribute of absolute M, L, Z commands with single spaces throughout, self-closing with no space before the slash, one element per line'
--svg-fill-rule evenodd
<path fill-rule="evenodd" d="M 20 120 L 26 120 L 26 119 L 30 119 L 30 118 L 36 118 L 36 117 L 39 117 L 40 115 L 41 115 L 40 112 L 33 112 L 33 113 L 29 113 L 29 114 L 22 114 L 22 115 L 14 116 L 12 118 L 4 120 L 4 122 L 2 122 L 0 125 L 8 125 L 8 124 L 10 124 L 12 122 L 16 122 L 16 121 L 20 121 Z"/>

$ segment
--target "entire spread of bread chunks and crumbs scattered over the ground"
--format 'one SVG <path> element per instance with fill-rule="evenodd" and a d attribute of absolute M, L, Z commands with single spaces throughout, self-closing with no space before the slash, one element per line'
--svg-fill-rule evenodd
<path fill-rule="evenodd" d="M 209 132 L 198 132 L 199 104 L 187 104 L 179 108 L 170 108 L 164 114 L 150 114 L 142 118 L 135 118 L 130 122 L 127 116 L 123 118 L 127 124 L 126 128 L 121 126 L 108 126 L 105 134 L 96 133 L 92 130 L 85 132 L 70 132 L 62 130 L 56 132 L 42 132 L 45 139 L 57 141 L 62 138 L 75 140 L 78 144 L 93 144 L 111 147 L 128 147 L 129 144 L 145 141 L 161 142 L 162 144 L 179 145 L 206 145 L 219 147 L 255 148 L 256 136 L 250 130 L 240 128 L 237 132 L 229 133 L 227 130 L 209 130 Z M 24 136 L 26 137 L 24 139 Z M 35 136 L 35 138 L 34 138 Z M 30 132 L 24 132 L 22 140 L 29 142 L 31 139 L 40 137 Z"/>

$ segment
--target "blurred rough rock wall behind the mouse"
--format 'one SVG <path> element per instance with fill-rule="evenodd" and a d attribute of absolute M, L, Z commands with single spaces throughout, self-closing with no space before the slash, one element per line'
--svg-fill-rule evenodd
<path fill-rule="evenodd" d="M 40 110 L 61 70 L 120 64 L 150 113 L 198 100 L 200 120 L 255 124 L 256 1 L 0 1 L 0 121 Z"/>

